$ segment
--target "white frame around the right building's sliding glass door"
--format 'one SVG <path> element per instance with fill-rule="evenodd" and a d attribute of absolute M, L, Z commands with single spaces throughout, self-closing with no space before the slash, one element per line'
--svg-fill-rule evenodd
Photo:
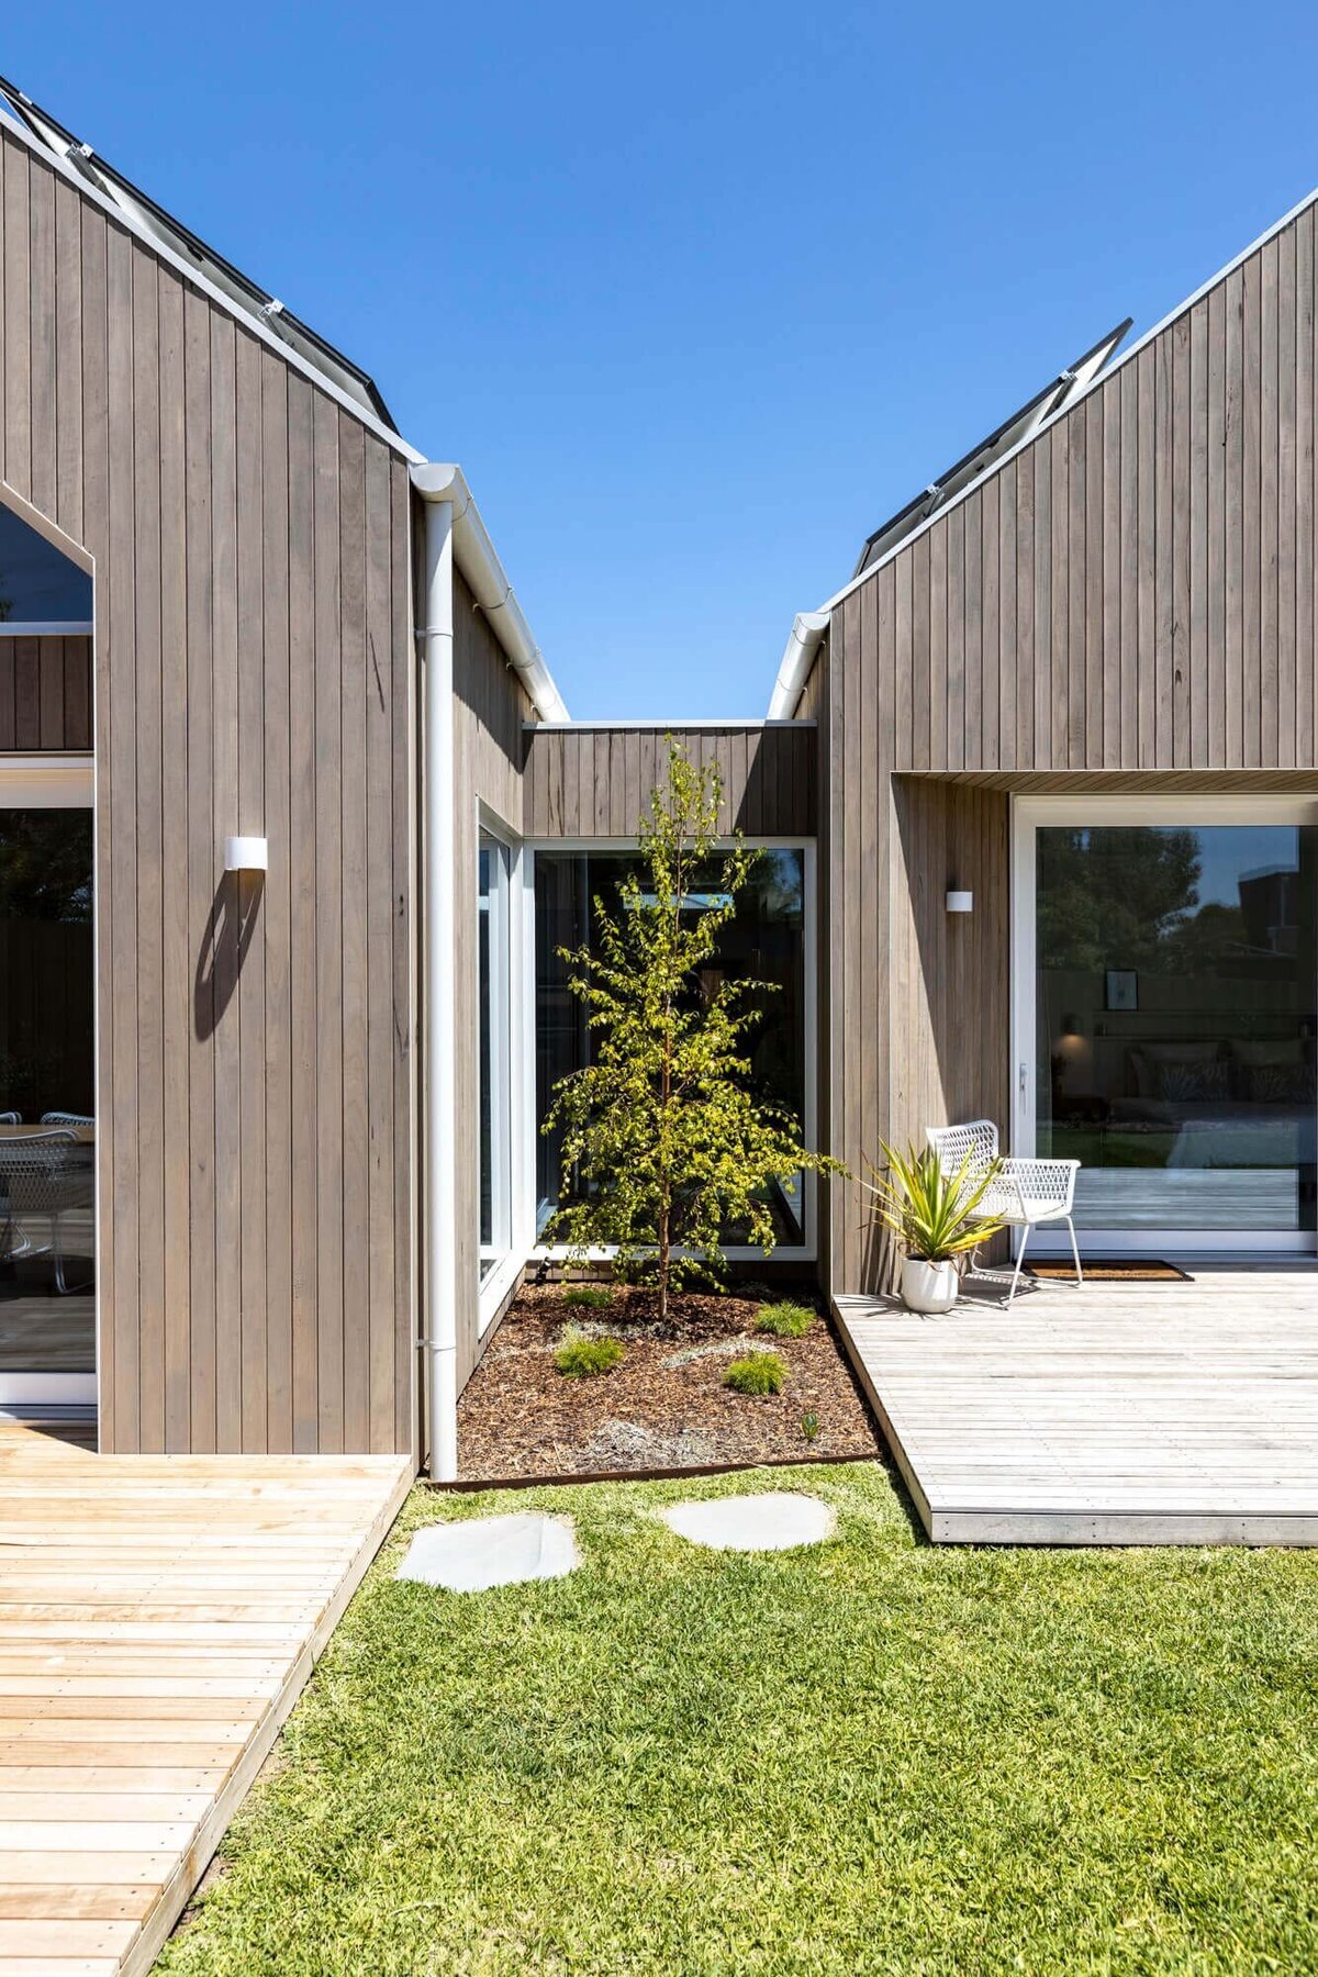
<path fill-rule="evenodd" d="M 1043 824 L 1318 824 L 1318 789 L 1300 795 L 1103 795 L 1073 791 L 1059 797 L 1012 799 L 1012 1119 L 1006 1141 L 1014 1153 L 1035 1151 L 1035 832 Z M 1280 1251 L 1312 1255 L 1312 1230 L 1081 1230 L 1091 1253 Z M 1014 1246 L 1020 1242 L 1014 1236 Z M 1063 1228 L 1033 1236 L 1039 1255 L 1069 1253 Z"/>

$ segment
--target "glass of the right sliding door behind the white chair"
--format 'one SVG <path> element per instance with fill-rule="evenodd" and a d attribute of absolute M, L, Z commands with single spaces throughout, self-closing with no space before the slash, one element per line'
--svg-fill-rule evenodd
<path fill-rule="evenodd" d="M 1033 826 L 1022 1091 L 1091 1242 L 1312 1247 L 1318 828 L 1273 815 Z"/>

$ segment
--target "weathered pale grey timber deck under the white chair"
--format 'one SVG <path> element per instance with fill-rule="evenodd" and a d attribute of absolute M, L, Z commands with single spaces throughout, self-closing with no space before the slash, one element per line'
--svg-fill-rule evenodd
<path fill-rule="evenodd" d="M 1318 1544 L 1318 1271 L 838 1297 L 939 1544 Z"/>

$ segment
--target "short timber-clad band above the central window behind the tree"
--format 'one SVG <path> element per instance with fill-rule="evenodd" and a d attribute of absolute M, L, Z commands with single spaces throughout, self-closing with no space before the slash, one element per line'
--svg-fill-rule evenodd
<path fill-rule="evenodd" d="M 528 838 L 632 838 L 664 779 L 664 737 L 723 777 L 723 828 L 812 838 L 816 739 L 802 722 L 729 728 L 535 728 L 526 737 Z"/>

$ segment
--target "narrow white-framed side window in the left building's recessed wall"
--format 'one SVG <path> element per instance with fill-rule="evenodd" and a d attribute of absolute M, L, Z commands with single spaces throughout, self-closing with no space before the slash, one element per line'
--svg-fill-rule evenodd
<path fill-rule="evenodd" d="M 480 1275 L 512 1249 L 512 1070 L 508 846 L 480 834 Z"/>

